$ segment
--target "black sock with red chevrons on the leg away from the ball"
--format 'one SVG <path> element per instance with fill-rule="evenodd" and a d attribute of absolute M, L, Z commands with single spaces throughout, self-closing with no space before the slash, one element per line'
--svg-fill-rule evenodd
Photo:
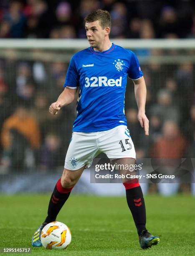
<path fill-rule="evenodd" d="M 141 187 L 126 189 L 127 204 L 132 212 L 138 236 L 146 229 L 146 208 Z"/>

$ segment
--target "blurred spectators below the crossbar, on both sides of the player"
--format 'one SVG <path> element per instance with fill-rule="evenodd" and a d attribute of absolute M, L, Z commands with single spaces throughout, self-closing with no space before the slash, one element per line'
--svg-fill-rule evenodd
<path fill-rule="evenodd" d="M 126 117 L 138 158 L 195 157 L 195 72 L 184 64 L 141 64 L 147 84 L 149 137 L 137 120 L 134 87 L 127 79 Z M 68 63 L 0 59 L 0 156 L 7 169 L 63 165 L 76 102 L 51 115 Z M 26 149 L 28 150 L 26 151 Z M 31 152 L 31 153 L 30 153 Z M 31 154 L 31 155 L 30 155 Z"/>

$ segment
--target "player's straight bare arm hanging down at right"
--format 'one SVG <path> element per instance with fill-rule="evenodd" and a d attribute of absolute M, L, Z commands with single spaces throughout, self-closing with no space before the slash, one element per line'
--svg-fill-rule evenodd
<path fill-rule="evenodd" d="M 141 77 L 138 80 L 134 80 L 134 91 L 135 99 L 138 106 L 138 115 L 140 125 L 144 128 L 145 135 L 149 135 L 149 120 L 145 115 L 145 105 L 146 105 L 146 84 L 144 77 Z"/>

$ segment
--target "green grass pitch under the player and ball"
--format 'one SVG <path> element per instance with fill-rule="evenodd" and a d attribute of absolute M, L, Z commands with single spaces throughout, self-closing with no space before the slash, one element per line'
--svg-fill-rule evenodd
<path fill-rule="evenodd" d="M 31 246 L 31 236 L 46 216 L 49 198 L 50 195 L 0 195 L 1 248 Z M 71 244 L 66 250 L 32 248 L 30 255 L 195 255 L 195 198 L 148 195 L 145 202 L 147 228 L 161 238 L 160 244 L 151 249 L 139 247 L 125 197 L 72 195 L 57 219 L 69 226 Z"/>

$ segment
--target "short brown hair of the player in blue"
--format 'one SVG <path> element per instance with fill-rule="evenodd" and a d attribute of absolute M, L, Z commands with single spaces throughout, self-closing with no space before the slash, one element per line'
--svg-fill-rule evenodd
<path fill-rule="evenodd" d="M 111 28 L 111 15 L 108 11 L 98 9 L 89 13 L 85 18 L 85 22 L 94 22 L 96 20 L 100 21 L 100 26 L 102 28 Z"/>

